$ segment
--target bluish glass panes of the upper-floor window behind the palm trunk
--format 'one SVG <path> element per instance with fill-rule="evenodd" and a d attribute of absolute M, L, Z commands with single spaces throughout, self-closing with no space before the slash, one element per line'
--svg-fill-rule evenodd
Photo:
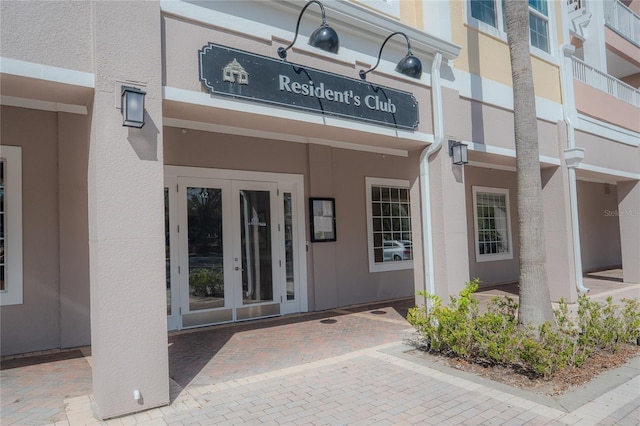
<path fill-rule="evenodd" d="M 470 24 L 506 40 L 504 0 L 469 0 L 467 10 Z M 549 17 L 547 0 L 529 0 L 530 43 L 544 53 L 550 53 Z"/>

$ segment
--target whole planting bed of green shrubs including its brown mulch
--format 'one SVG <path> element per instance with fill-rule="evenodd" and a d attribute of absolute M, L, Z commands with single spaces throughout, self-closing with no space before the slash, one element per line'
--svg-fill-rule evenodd
<path fill-rule="evenodd" d="M 468 282 L 448 304 L 420 293 L 430 299 L 431 309 L 411 308 L 407 320 L 423 351 L 456 368 L 519 387 L 542 387 L 550 394 L 584 383 L 640 353 L 636 299 L 623 299 L 618 306 L 610 297 L 601 304 L 583 295 L 577 312 L 561 301 L 554 310 L 555 324 L 533 329 L 518 324 L 518 305 L 510 297 L 493 298 L 481 312 L 473 297 L 478 284 L 477 279 Z M 551 386 L 541 386 L 543 382 Z"/>

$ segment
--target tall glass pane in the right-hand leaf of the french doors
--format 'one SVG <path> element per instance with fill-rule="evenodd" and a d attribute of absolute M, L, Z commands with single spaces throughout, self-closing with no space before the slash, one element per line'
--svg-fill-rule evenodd
<path fill-rule="evenodd" d="M 243 305 L 273 301 L 269 191 L 240 191 Z"/>

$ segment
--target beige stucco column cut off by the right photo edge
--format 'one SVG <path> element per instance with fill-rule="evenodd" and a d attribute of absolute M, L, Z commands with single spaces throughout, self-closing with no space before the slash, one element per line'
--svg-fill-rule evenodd
<path fill-rule="evenodd" d="M 622 271 L 626 283 L 640 283 L 640 181 L 618 182 Z"/>

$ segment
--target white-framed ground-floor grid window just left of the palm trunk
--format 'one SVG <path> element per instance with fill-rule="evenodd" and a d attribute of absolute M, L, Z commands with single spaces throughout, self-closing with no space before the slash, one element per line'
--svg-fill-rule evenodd
<path fill-rule="evenodd" d="M 476 261 L 513 259 L 509 190 L 473 187 Z"/>

